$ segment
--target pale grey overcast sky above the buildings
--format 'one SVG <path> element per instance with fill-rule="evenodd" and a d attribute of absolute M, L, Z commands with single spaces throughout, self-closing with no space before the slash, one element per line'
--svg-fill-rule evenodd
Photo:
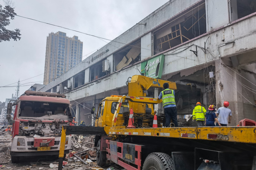
<path fill-rule="evenodd" d="M 17 15 L 114 39 L 168 0 L 13 0 Z M 3 0 L 0 4 L 4 5 Z M 43 84 L 46 37 L 65 32 L 83 42 L 83 59 L 106 43 L 96 37 L 15 16 L 7 29 L 20 29 L 19 41 L 0 43 L 0 86 L 17 86 L 20 94 L 35 83 Z M 87 56 L 86 56 L 87 55 Z M 33 78 L 32 78 L 33 77 Z M 31 79 L 30 79 L 31 78 Z M 28 79 L 28 80 L 26 80 Z M 24 81 L 23 81 L 24 80 Z M 14 83 L 14 84 L 12 84 Z M 0 101 L 15 95 L 17 87 L 0 87 Z"/>

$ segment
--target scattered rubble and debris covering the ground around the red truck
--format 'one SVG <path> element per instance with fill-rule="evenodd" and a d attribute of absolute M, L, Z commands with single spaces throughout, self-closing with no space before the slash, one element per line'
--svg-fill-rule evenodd
<path fill-rule="evenodd" d="M 63 161 L 63 170 L 125 170 L 110 160 L 105 167 L 99 167 L 96 161 L 96 148 L 94 147 L 95 136 L 73 136 L 72 150 L 66 154 Z M 10 147 L 12 142 L 11 132 L 0 133 L 0 169 L 9 170 L 58 170 L 58 160 L 44 160 L 41 157 L 24 158 L 20 163 L 12 163 Z M 80 153 L 79 153 L 80 152 Z M 79 160 L 77 157 L 82 159 Z"/>

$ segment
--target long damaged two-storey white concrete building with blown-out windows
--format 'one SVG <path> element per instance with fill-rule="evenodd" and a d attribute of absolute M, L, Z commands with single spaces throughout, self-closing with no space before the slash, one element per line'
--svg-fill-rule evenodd
<path fill-rule="evenodd" d="M 91 107 L 126 95 L 143 62 L 164 55 L 161 79 L 177 84 L 178 117 L 197 101 L 229 101 L 231 126 L 256 120 L 256 4 L 250 0 L 170 0 L 40 91 L 65 93 L 77 120 L 91 124 Z M 162 89 L 148 90 L 157 98 Z M 155 110 L 163 113 L 162 104 Z"/>

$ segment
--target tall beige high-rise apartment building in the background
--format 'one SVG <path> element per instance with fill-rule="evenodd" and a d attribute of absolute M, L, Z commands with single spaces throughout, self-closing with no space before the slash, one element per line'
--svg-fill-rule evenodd
<path fill-rule="evenodd" d="M 83 42 L 78 36 L 67 37 L 58 31 L 49 33 L 46 41 L 45 74 L 43 84 L 51 81 L 75 67 L 82 61 Z"/>

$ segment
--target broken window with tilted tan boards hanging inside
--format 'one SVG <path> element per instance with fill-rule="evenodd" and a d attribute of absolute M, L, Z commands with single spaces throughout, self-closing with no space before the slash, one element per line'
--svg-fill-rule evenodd
<path fill-rule="evenodd" d="M 141 41 L 128 45 L 114 54 L 114 69 L 122 68 L 141 60 Z"/>

